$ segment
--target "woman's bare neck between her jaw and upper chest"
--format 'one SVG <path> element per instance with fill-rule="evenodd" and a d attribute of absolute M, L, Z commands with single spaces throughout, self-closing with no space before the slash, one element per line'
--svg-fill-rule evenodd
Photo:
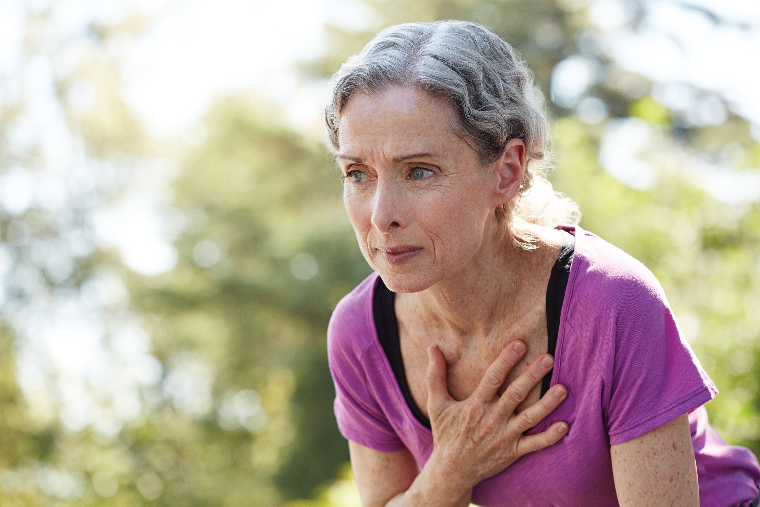
<path fill-rule="evenodd" d="M 492 332 L 516 322 L 523 309 L 535 303 L 521 294 L 543 255 L 515 246 L 496 221 L 487 228 L 487 239 L 466 265 L 410 295 L 417 299 L 423 322 L 462 344 L 487 341 Z"/>

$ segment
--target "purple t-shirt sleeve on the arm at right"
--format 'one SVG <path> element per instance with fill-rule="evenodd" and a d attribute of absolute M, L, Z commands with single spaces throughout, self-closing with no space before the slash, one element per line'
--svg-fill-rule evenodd
<path fill-rule="evenodd" d="M 635 439 L 717 395 L 683 338 L 659 282 L 641 265 L 619 280 L 610 402 L 610 444 Z"/>

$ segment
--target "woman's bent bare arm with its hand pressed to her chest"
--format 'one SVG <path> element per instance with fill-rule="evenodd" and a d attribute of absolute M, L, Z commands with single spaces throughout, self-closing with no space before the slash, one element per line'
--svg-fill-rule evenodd
<path fill-rule="evenodd" d="M 429 347 L 426 375 L 427 409 L 433 451 L 418 472 L 407 450 L 379 452 L 350 442 L 351 466 L 364 507 L 466 507 L 472 489 L 498 474 L 523 455 L 546 448 L 567 433 L 566 423 L 554 423 L 542 433 L 524 432 L 552 412 L 567 391 L 555 385 L 540 401 L 515 414 L 515 407 L 551 369 L 551 356 L 540 356 L 504 393 L 499 388 L 525 352 L 522 342 L 505 347 L 489 366 L 469 398 L 448 394 L 446 364 L 436 347 Z M 548 362 L 542 362 L 549 358 Z"/>

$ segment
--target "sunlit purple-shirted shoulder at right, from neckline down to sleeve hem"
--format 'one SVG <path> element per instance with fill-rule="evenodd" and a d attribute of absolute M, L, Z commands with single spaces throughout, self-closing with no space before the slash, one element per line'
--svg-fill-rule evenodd
<path fill-rule="evenodd" d="M 609 242 L 579 232 L 568 281 L 575 269 L 568 312 L 575 334 L 568 343 L 582 344 L 600 372 L 614 445 L 686 414 L 717 389 L 683 339 L 654 274 Z"/>

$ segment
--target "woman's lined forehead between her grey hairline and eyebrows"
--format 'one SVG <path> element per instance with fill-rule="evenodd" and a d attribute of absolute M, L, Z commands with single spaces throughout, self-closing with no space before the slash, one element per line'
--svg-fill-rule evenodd
<path fill-rule="evenodd" d="M 340 154 L 370 157 L 451 151 L 464 144 L 453 132 L 453 120 L 448 100 L 422 90 L 390 87 L 371 95 L 359 93 L 348 100 L 340 115 Z"/>

